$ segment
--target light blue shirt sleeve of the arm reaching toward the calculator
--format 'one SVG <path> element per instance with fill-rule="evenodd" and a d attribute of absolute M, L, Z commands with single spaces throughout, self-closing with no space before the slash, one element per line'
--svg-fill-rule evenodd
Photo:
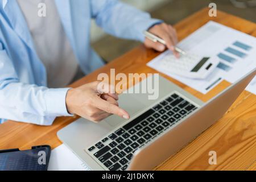
<path fill-rule="evenodd" d="M 92 18 L 108 34 L 144 42 L 143 31 L 162 20 L 117 0 L 92 0 Z"/>

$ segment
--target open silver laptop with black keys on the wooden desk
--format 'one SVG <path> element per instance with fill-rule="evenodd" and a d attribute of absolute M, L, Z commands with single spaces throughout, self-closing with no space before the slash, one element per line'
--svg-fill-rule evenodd
<path fill-rule="evenodd" d="M 147 94 L 119 96 L 129 120 L 80 118 L 57 136 L 92 170 L 150 170 L 220 119 L 255 74 L 256 69 L 207 103 L 159 77 L 158 100 L 148 100 Z"/>

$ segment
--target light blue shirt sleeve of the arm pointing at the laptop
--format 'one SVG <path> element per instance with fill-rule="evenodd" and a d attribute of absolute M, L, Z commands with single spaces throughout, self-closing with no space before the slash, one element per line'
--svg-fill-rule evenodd
<path fill-rule="evenodd" d="M 0 49 L 0 72 L 0 118 L 52 125 L 56 117 L 71 115 L 65 105 L 69 88 L 49 89 L 20 82 L 4 49 Z"/>

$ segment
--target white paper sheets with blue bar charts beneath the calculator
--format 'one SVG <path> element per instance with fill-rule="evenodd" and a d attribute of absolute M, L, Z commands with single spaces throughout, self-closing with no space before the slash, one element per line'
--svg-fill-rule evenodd
<path fill-rule="evenodd" d="M 234 44 L 235 42 L 242 43 L 243 48 Z M 223 79 L 233 83 L 256 68 L 256 38 L 216 22 L 208 22 L 199 28 L 199 30 L 182 40 L 177 46 L 188 53 L 205 57 L 217 57 L 221 64 L 204 80 L 185 78 L 163 70 L 160 67 L 160 61 L 166 52 L 151 60 L 147 65 L 183 82 L 203 94 L 209 92 L 209 90 L 214 88 Z M 230 49 L 235 49 L 242 53 L 242 55 L 235 55 L 232 51 L 230 53 Z M 227 61 L 218 57 L 217 55 L 220 54 L 228 56 L 232 60 Z M 254 81 L 247 86 L 246 90 L 256 94 L 255 82 L 254 78 Z"/>

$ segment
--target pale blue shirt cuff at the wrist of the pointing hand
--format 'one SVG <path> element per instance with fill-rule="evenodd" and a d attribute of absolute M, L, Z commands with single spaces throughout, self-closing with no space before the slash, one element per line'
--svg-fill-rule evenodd
<path fill-rule="evenodd" d="M 48 116 L 72 116 L 68 113 L 66 96 L 71 88 L 48 89 L 45 95 Z"/>

